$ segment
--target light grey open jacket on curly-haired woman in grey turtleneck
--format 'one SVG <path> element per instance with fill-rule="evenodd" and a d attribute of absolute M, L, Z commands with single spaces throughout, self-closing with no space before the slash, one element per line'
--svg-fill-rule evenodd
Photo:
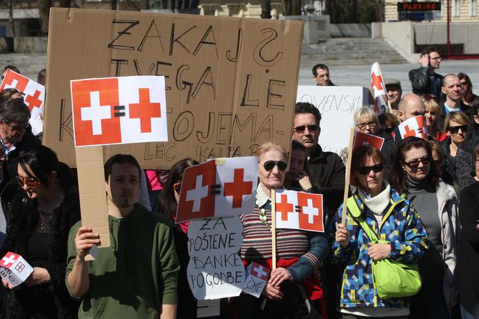
<path fill-rule="evenodd" d="M 436 187 L 438 215 L 442 227 L 442 256 L 444 260 L 444 297 L 448 306 L 457 302 L 457 291 L 453 288 L 453 274 L 459 247 L 461 225 L 459 220 L 459 202 L 452 186 L 439 181 Z"/>

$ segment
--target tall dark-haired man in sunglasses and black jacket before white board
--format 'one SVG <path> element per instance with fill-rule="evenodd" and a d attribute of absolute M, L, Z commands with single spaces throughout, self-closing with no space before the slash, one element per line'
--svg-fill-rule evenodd
<path fill-rule="evenodd" d="M 320 111 L 313 104 L 296 103 L 292 138 L 306 147 L 311 182 L 324 195 L 328 214 L 334 215 L 343 201 L 346 169 L 339 155 L 324 152 L 317 143 L 321 132 L 320 120 Z"/>

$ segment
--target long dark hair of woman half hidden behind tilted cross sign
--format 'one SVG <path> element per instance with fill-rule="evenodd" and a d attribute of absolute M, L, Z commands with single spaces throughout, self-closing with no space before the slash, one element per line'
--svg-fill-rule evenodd
<path fill-rule="evenodd" d="M 164 214 L 168 219 L 171 219 L 176 213 L 178 203 L 176 203 L 173 185 L 181 182 L 183 179 L 184 170 L 188 167 L 198 165 L 200 163 L 191 158 L 180 160 L 171 167 L 166 178 L 166 183 L 163 187 L 162 194 L 159 196 L 158 212 Z"/>

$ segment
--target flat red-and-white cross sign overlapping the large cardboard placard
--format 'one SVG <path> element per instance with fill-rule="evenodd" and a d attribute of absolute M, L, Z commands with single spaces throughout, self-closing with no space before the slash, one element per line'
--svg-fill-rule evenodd
<path fill-rule="evenodd" d="M 75 146 L 168 141 L 164 77 L 70 82 Z"/>

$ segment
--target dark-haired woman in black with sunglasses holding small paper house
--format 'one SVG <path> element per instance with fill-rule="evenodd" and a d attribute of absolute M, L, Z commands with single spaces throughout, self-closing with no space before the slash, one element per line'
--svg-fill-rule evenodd
<path fill-rule="evenodd" d="M 65 286 L 68 232 L 80 219 L 77 187 L 53 150 L 38 146 L 19 158 L 18 184 L 1 256 L 22 256 L 32 267 L 26 281 L 9 290 L 2 318 L 75 318 L 78 306 Z"/>

